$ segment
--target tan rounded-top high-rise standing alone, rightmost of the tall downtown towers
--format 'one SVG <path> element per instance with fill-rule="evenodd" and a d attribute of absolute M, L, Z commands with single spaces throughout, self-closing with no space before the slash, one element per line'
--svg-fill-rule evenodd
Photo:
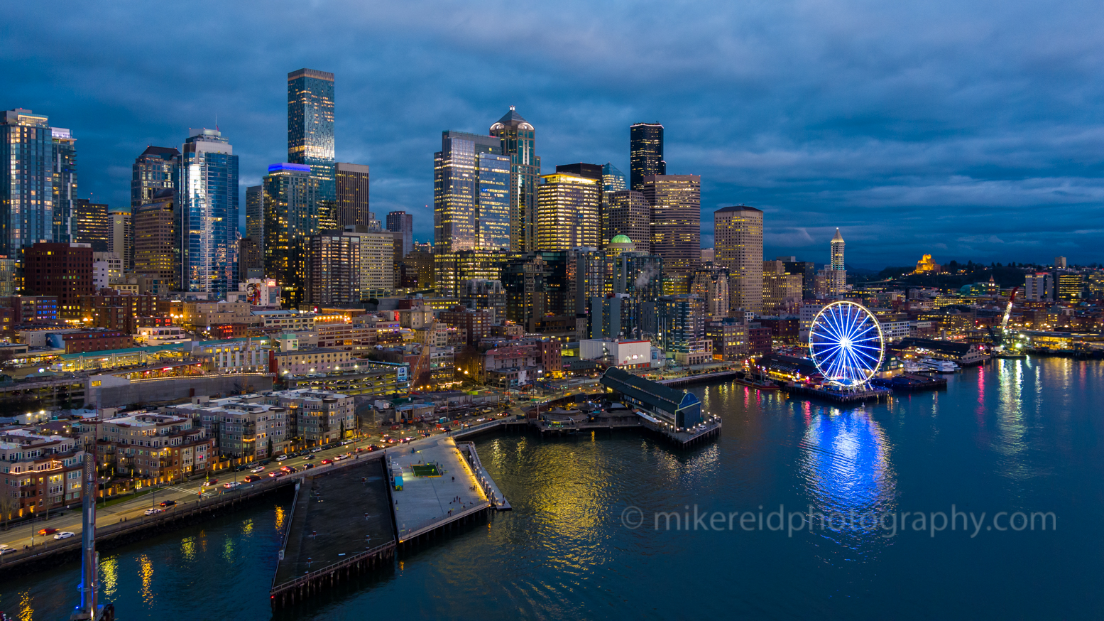
<path fill-rule="evenodd" d="M 713 212 L 713 263 L 729 270 L 730 307 L 762 313 L 762 210 L 736 204 Z"/>

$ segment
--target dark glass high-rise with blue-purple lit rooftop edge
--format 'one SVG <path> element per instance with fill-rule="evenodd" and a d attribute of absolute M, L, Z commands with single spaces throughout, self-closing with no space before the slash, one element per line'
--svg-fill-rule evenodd
<path fill-rule="evenodd" d="M 306 243 L 319 231 L 318 186 L 310 167 L 274 164 L 264 178 L 265 275 L 279 281 L 284 303 L 304 302 Z"/>

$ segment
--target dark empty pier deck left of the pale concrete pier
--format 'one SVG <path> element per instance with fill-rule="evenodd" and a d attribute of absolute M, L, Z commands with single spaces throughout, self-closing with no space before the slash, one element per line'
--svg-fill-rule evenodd
<path fill-rule="evenodd" d="M 386 484 L 379 459 L 296 484 L 269 591 L 274 610 L 392 562 L 395 531 Z"/>

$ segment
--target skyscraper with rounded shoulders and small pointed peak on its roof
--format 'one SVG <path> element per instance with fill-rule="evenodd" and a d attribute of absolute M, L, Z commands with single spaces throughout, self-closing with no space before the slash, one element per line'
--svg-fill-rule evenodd
<path fill-rule="evenodd" d="M 510 250 L 537 249 L 537 185 L 541 158 L 537 156 L 537 130 L 513 106 L 490 126 L 501 139 L 502 155 L 510 158 Z"/>

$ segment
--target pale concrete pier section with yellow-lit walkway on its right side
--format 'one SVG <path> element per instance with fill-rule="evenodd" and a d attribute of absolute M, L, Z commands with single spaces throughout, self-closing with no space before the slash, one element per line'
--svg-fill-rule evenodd
<path fill-rule="evenodd" d="M 400 473 L 394 490 L 395 529 L 400 545 L 477 519 L 493 505 L 475 470 L 449 436 L 434 436 L 388 450 L 389 472 Z M 489 480 L 484 474 L 484 477 Z M 501 497 L 501 496 L 499 496 Z"/>

